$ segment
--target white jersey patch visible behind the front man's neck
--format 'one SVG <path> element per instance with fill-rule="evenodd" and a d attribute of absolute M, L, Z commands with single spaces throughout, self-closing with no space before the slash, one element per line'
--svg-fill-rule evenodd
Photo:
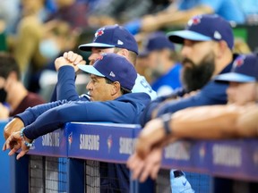
<path fill-rule="evenodd" d="M 135 80 L 132 92 L 145 92 L 150 96 L 151 100 L 157 97 L 157 93 L 150 87 L 150 84 L 147 82 L 145 77 L 141 76 L 140 74 L 137 74 L 137 79 Z"/>

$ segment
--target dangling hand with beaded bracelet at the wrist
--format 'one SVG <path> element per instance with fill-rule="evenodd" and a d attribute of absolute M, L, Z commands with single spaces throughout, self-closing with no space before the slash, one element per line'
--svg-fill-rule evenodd
<path fill-rule="evenodd" d="M 25 138 L 26 139 L 26 138 Z M 13 134 L 6 139 L 3 147 L 3 151 L 10 148 L 11 151 L 8 155 L 13 155 L 22 147 L 22 151 L 17 155 L 16 159 L 20 159 L 23 155 L 29 152 L 30 147 L 26 147 L 24 144 L 24 138 L 21 137 L 21 131 L 13 132 Z"/>

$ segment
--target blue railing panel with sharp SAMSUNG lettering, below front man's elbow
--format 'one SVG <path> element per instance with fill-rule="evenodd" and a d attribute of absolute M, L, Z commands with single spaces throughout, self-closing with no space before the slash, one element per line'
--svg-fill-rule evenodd
<path fill-rule="evenodd" d="M 133 153 L 136 124 L 72 122 L 67 125 L 68 156 L 125 163 Z"/>

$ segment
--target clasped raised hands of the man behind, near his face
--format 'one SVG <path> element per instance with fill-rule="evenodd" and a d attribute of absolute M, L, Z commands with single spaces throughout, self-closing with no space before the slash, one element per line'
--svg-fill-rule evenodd
<path fill-rule="evenodd" d="M 56 58 L 55 67 L 58 71 L 62 66 L 70 65 L 73 67 L 74 71 L 79 71 L 77 64 L 85 64 L 82 55 L 77 55 L 72 51 L 65 52 L 63 56 Z"/>

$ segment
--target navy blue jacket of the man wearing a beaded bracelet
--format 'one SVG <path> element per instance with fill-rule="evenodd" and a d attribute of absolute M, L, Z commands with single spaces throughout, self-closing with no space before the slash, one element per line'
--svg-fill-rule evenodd
<path fill-rule="evenodd" d="M 65 122 L 139 123 L 143 109 L 150 103 L 145 93 L 130 93 L 106 102 L 67 101 L 37 105 L 17 114 L 24 122 L 27 138 L 34 139 L 57 130 Z M 74 112 L 74 113 L 71 113 Z"/>

